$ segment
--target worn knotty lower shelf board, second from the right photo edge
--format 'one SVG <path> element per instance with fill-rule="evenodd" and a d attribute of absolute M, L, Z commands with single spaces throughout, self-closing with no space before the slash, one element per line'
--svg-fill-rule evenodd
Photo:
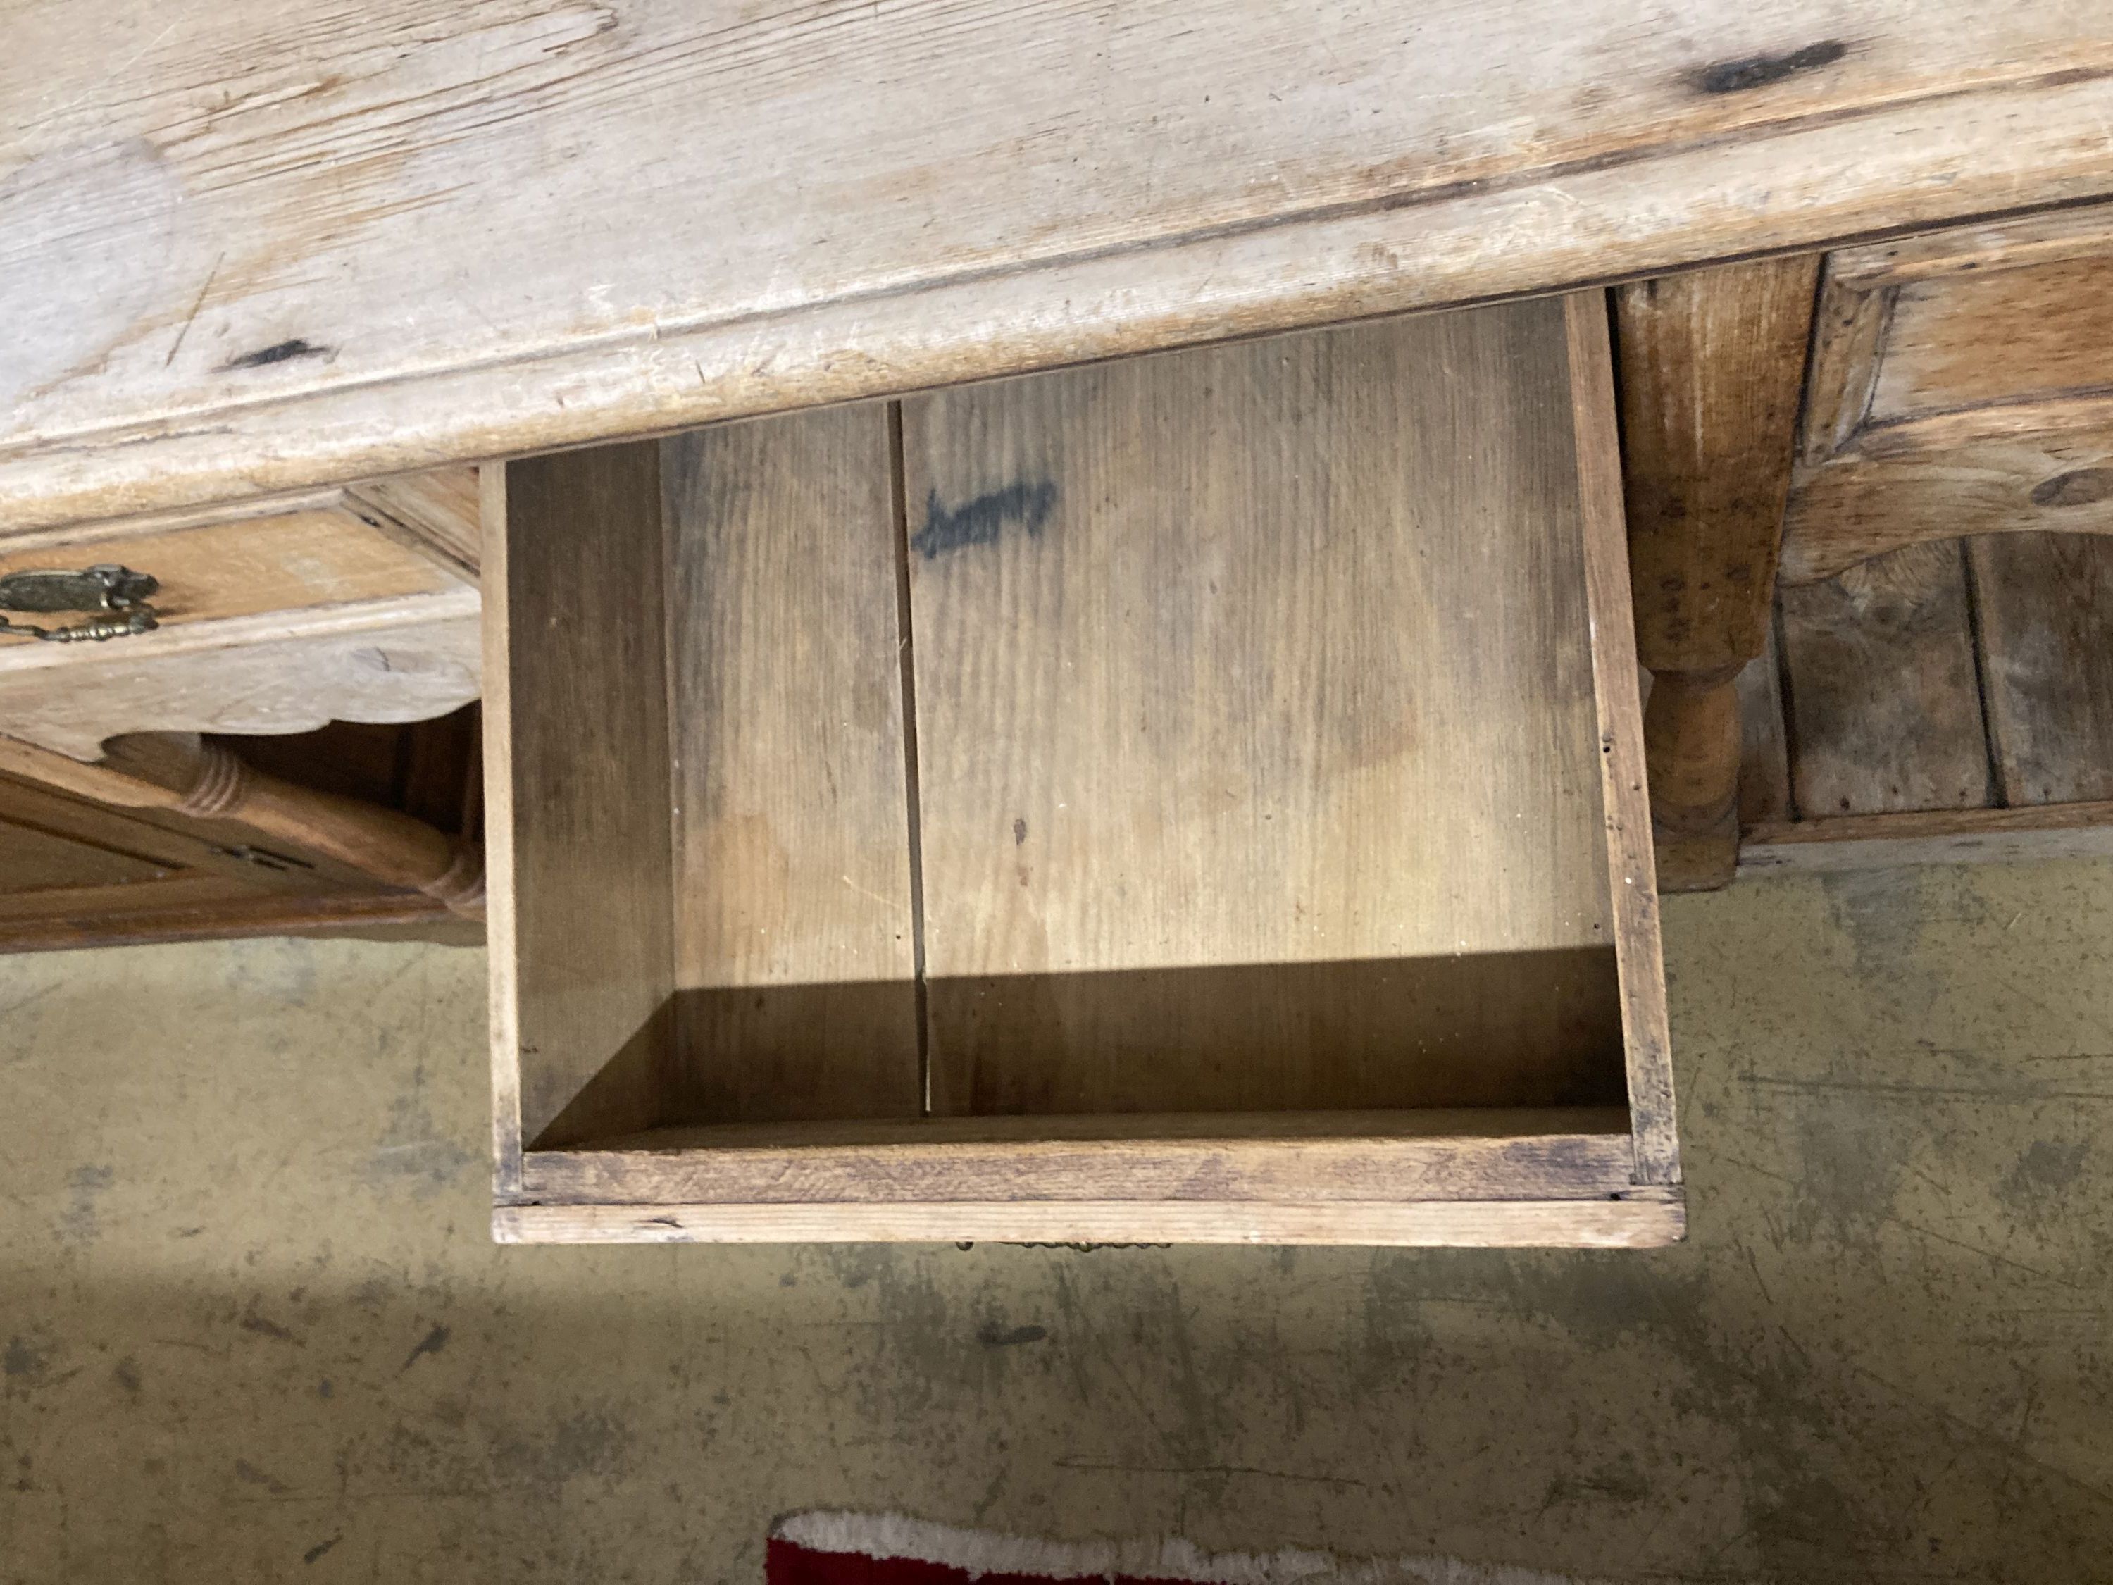
<path fill-rule="evenodd" d="M 1802 818 L 1990 801 L 1957 543 L 1895 549 L 1781 592 L 1792 790 Z"/>

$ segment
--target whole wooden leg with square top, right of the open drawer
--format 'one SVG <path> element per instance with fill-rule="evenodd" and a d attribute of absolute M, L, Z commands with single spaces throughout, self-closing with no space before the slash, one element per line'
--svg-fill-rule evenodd
<path fill-rule="evenodd" d="M 1614 294 L 1661 892 L 1739 869 L 1737 676 L 1769 642 L 1817 279 L 1805 256 Z"/>

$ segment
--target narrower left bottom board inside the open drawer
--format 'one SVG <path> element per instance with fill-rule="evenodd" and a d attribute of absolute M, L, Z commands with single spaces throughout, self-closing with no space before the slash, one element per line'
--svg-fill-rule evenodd
<path fill-rule="evenodd" d="M 883 406 L 668 442 L 680 1107 L 917 1116 Z"/>

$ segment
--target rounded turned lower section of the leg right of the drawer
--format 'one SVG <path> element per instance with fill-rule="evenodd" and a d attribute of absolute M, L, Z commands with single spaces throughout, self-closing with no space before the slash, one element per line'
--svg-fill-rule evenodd
<path fill-rule="evenodd" d="M 1707 892 L 1739 869 L 1737 666 L 1652 672 L 1644 706 L 1661 892 Z"/>

